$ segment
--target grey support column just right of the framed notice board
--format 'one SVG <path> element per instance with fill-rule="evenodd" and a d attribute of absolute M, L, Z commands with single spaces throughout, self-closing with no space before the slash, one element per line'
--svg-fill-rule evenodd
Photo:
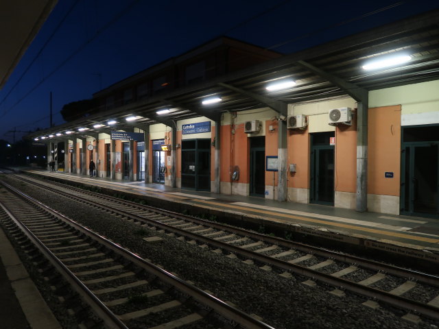
<path fill-rule="evenodd" d="M 278 121 L 278 186 L 277 200 L 287 200 L 287 121 Z"/>

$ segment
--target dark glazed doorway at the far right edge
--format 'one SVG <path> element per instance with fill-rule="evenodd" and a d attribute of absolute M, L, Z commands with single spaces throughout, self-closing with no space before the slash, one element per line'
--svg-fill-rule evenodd
<path fill-rule="evenodd" d="M 439 125 L 404 127 L 401 213 L 439 217 Z"/>

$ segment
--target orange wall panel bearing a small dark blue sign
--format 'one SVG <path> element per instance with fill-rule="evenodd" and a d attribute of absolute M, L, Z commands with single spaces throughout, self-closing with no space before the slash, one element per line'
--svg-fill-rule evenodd
<path fill-rule="evenodd" d="M 401 106 L 370 108 L 368 126 L 368 193 L 399 196 Z M 394 177 L 385 178 L 385 171 Z"/>

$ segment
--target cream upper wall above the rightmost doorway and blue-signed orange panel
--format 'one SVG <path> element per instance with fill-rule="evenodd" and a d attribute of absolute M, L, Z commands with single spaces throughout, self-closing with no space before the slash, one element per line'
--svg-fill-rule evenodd
<path fill-rule="evenodd" d="M 439 123 L 439 80 L 372 90 L 369 107 L 401 104 L 401 125 Z"/>

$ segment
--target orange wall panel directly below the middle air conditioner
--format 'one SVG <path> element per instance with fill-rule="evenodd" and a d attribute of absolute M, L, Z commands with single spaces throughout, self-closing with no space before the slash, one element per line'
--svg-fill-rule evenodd
<path fill-rule="evenodd" d="M 306 130 L 288 131 L 288 164 L 296 164 L 296 173 L 289 173 L 288 187 L 309 188 L 309 134 Z"/>

